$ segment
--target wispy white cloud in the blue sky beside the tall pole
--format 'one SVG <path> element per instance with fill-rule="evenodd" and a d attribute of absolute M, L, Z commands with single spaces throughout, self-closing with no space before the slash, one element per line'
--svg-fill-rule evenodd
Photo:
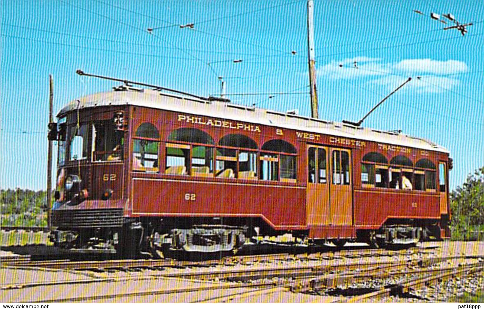
<path fill-rule="evenodd" d="M 355 61 L 358 68 L 354 66 Z M 317 74 L 333 80 L 366 78 L 371 84 L 387 86 L 388 90 L 395 89 L 406 80 L 406 76 L 411 76 L 413 80 L 403 91 L 439 93 L 460 84 L 456 78 L 441 75 L 465 73 L 468 70 L 465 62 L 452 59 L 447 61 L 404 59 L 399 62 L 384 63 L 378 58 L 362 56 L 340 61 L 333 60 L 320 66 Z"/>

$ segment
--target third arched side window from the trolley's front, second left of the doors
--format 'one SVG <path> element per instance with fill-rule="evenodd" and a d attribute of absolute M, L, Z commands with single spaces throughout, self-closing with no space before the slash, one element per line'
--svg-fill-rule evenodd
<path fill-rule="evenodd" d="M 257 179 L 257 143 L 253 139 L 242 134 L 227 134 L 218 144 L 224 147 L 217 147 L 217 177 Z"/>

